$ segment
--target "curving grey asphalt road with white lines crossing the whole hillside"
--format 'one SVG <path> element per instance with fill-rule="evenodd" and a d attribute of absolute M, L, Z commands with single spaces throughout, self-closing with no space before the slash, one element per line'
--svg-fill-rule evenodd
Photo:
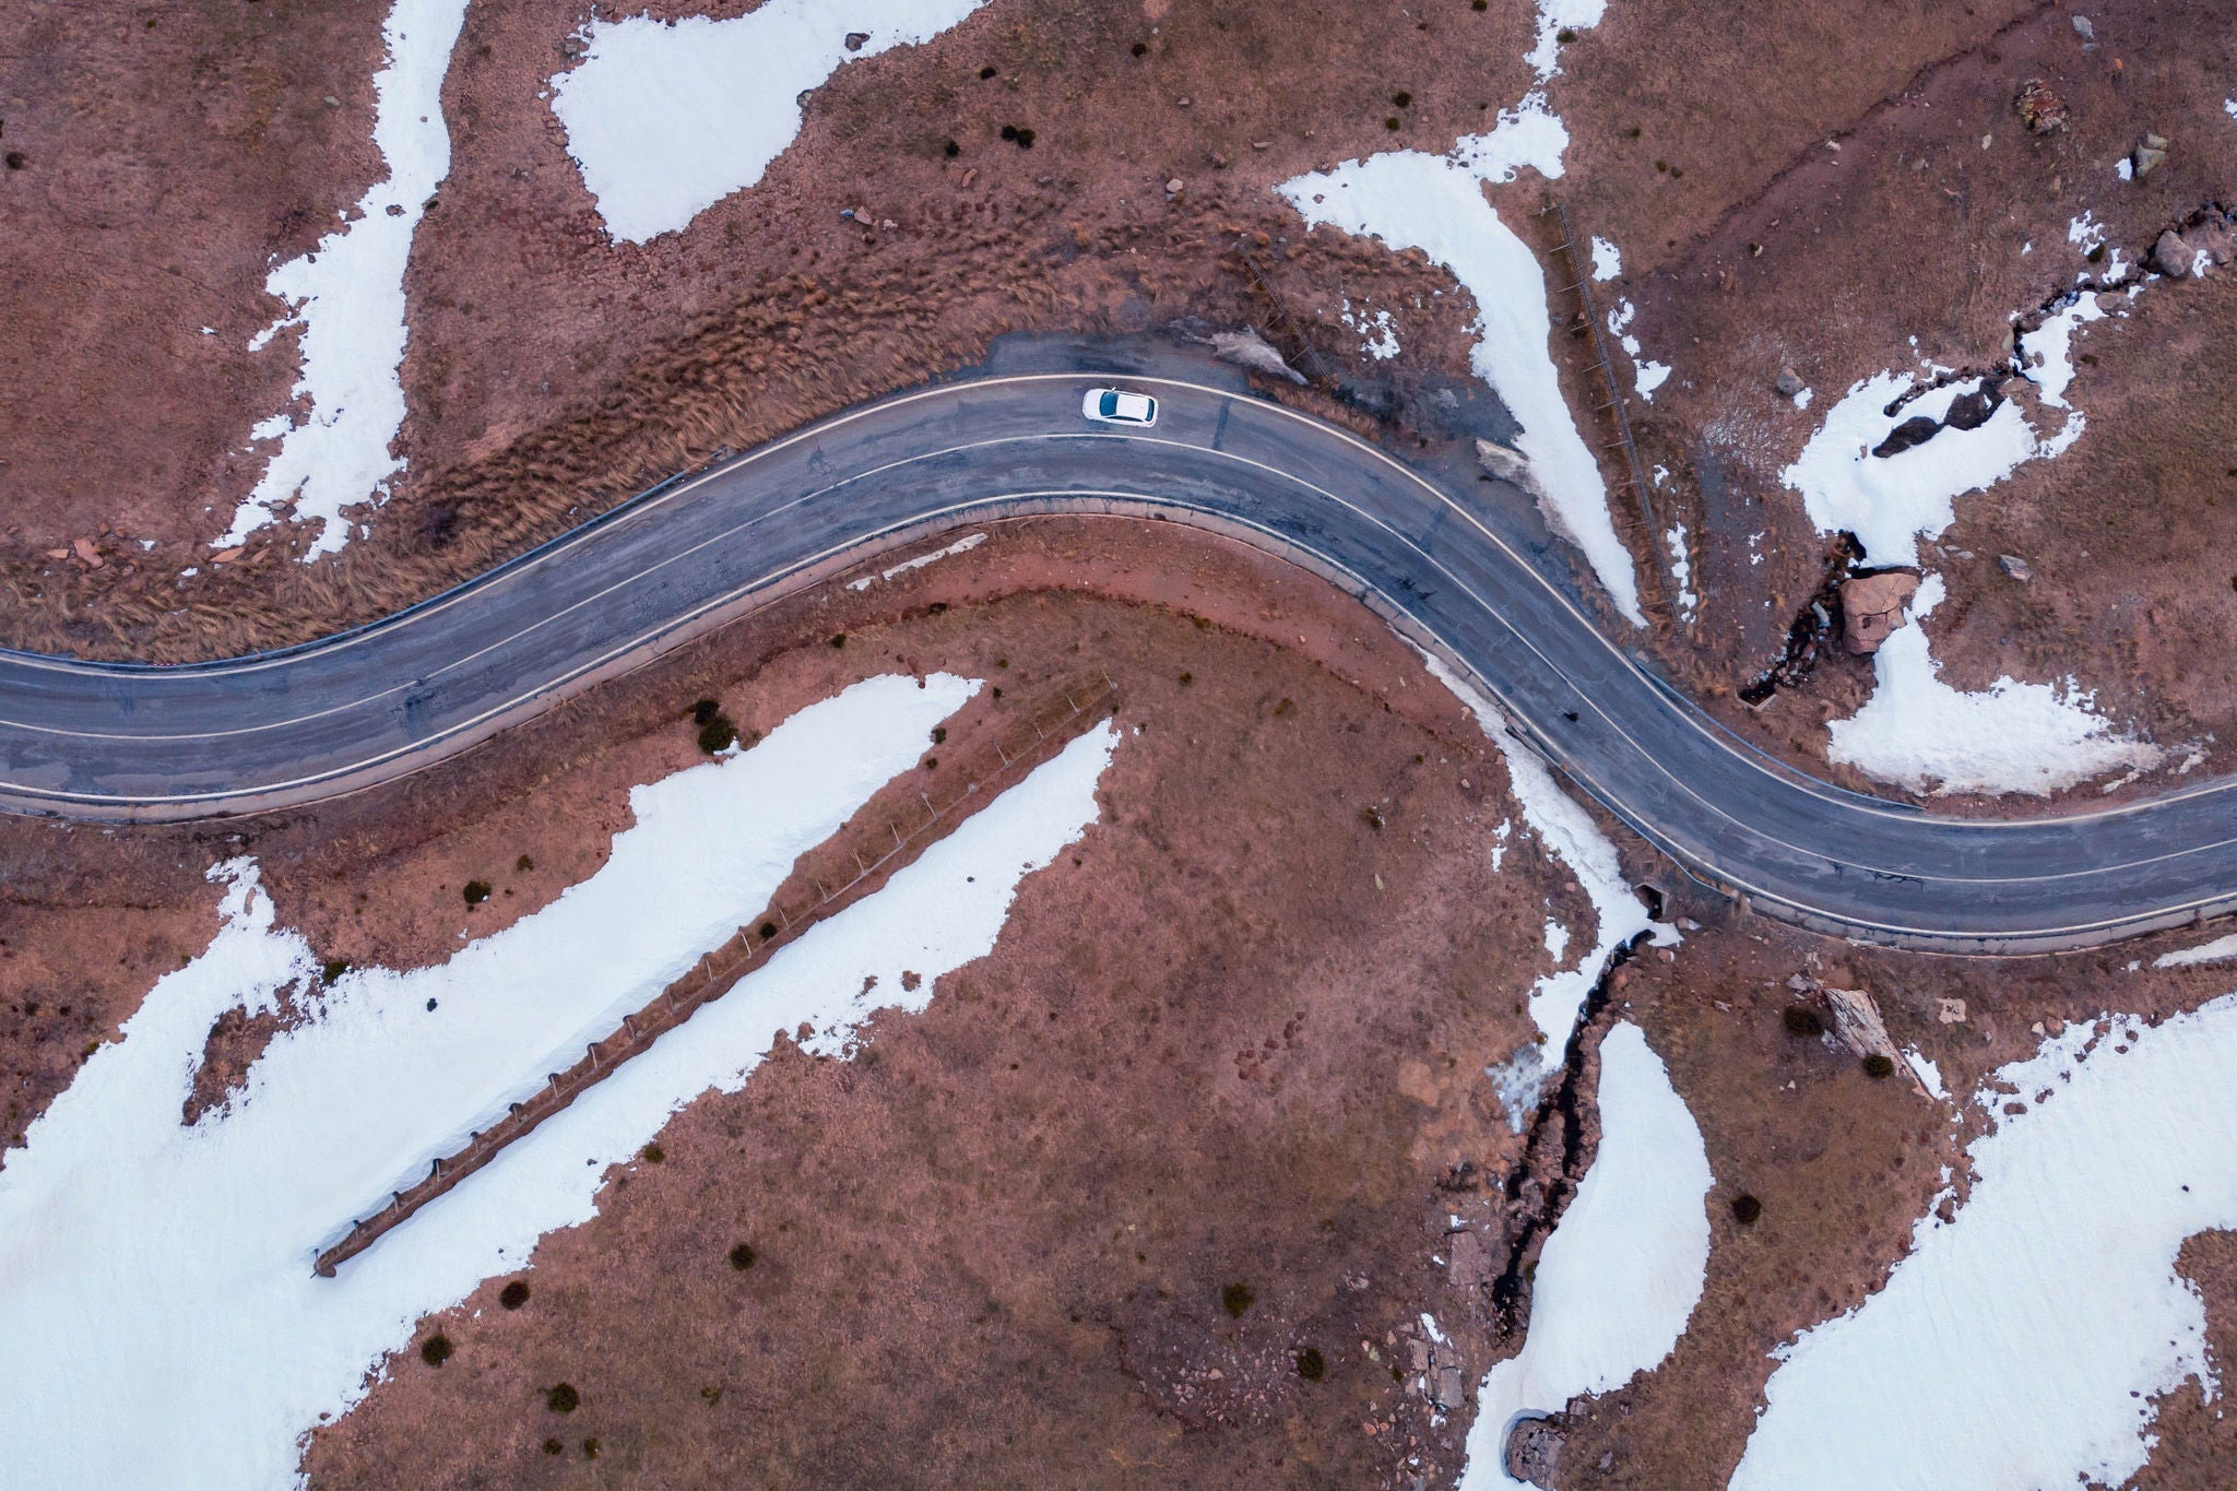
<path fill-rule="evenodd" d="M 832 418 L 476 581 L 298 648 L 179 668 L 0 653 L 0 807 L 161 820 L 403 776 L 770 597 L 964 523 L 1159 514 L 1344 586 L 1514 733 L 1758 912 L 1951 952 L 2087 946 L 2237 908 L 2233 789 L 1937 818 L 1810 780 L 1644 673 L 1465 501 L 1242 389 L 1130 373 L 1157 429 L 1080 418 L 1094 373 L 984 376 Z"/>

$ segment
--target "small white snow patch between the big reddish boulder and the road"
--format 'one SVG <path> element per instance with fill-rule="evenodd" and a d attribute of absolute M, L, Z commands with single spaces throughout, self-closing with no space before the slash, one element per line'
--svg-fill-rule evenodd
<path fill-rule="evenodd" d="M 1942 577 L 1928 574 L 1910 619 L 1872 657 L 1872 697 L 1825 726 L 1830 760 L 1937 796 L 2051 794 L 2107 771 L 2150 771 L 2165 760 L 2150 740 L 2114 733 L 2092 709 L 2089 691 L 2071 677 L 2060 686 L 2000 677 L 1980 693 L 1944 684 L 1919 626 L 1942 595 Z"/>

